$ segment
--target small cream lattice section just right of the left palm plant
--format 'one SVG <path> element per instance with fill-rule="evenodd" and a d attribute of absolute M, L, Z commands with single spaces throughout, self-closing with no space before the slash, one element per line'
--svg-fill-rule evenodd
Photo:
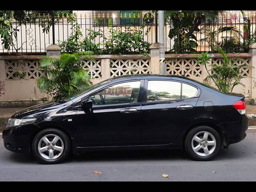
<path fill-rule="evenodd" d="M 83 68 L 89 70 L 91 78 L 98 79 L 101 78 L 101 60 L 95 61 L 82 61 L 84 64 Z"/>

